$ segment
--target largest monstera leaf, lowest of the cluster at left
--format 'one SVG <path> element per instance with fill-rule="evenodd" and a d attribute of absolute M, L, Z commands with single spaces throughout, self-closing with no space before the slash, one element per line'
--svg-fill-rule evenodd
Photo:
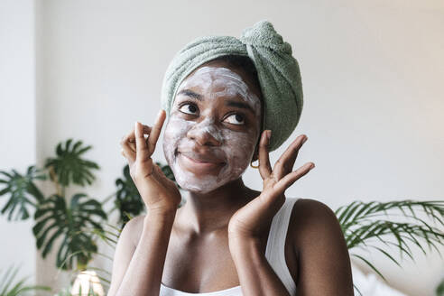
<path fill-rule="evenodd" d="M 51 251 L 54 240 L 63 236 L 57 254 L 57 267 L 72 269 L 74 258 L 77 258 L 78 265 L 88 264 L 92 254 L 97 253 L 96 242 L 93 235 L 88 234 L 88 229 L 92 226 L 99 232 L 103 231 L 100 222 L 93 220 L 93 217 L 107 218 L 101 204 L 95 199 L 88 199 L 83 193 L 72 197 L 69 208 L 65 199 L 58 194 L 42 201 L 34 215 L 36 224 L 32 232 L 37 239 L 37 248 L 43 248 L 43 258 Z M 51 237 L 47 239 L 50 231 Z"/>

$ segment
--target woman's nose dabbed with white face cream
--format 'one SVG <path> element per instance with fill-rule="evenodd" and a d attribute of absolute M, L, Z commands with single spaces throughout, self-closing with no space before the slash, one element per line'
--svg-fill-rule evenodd
<path fill-rule="evenodd" d="M 204 119 L 197 123 L 187 133 L 187 137 L 200 145 L 219 146 L 223 137 L 213 119 Z"/>

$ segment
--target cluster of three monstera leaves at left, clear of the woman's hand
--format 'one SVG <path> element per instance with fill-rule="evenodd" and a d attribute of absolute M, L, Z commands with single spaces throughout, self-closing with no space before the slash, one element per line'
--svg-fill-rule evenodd
<path fill-rule="evenodd" d="M 9 193 L 9 200 L 2 209 L 2 214 L 8 213 L 8 220 L 13 218 L 14 212 L 17 212 L 16 220 L 27 219 L 30 217 L 30 210 L 32 208 L 35 210 L 33 218 L 36 224 L 32 227 L 32 232 L 36 236 L 37 249 L 43 248 L 43 258 L 51 251 L 54 240 L 64 235 L 56 266 L 71 269 L 72 259 L 76 259 L 78 268 L 81 269 L 97 251 L 95 238 L 83 234 L 82 231 L 88 225 L 92 225 L 99 232 L 100 219 L 106 219 L 106 213 L 97 200 L 88 198 L 85 193 L 75 194 L 70 202 L 65 196 L 65 189 L 71 183 L 82 187 L 90 185 L 95 179 L 91 171 L 99 169 L 97 163 L 82 158 L 82 154 L 91 146 L 83 147 L 81 141 L 73 145 L 71 143 L 72 139 L 59 143 L 55 149 L 56 157 L 47 159 L 44 169 L 36 169 L 32 165 L 24 175 L 15 170 L 0 171 L 0 174 L 5 176 L 4 179 L 0 179 L 0 184 L 5 184 L 0 196 Z M 45 198 L 34 181 L 48 180 L 48 175 L 55 185 L 56 193 Z M 18 210 L 15 211 L 17 206 Z M 99 220 L 95 221 L 97 217 Z M 48 236 L 50 237 L 46 239 Z M 75 258 L 72 258 L 68 264 L 62 265 L 69 254 L 76 254 Z"/>

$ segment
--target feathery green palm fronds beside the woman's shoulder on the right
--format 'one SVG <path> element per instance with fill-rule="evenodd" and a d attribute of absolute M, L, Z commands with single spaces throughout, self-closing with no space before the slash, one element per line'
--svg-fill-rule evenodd
<path fill-rule="evenodd" d="M 391 254 L 391 246 L 398 249 L 401 259 L 403 254 L 406 254 L 413 260 L 409 244 L 418 246 L 423 254 L 427 254 L 424 242 L 428 245 L 429 251 L 434 249 L 441 255 L 438 246 L 444 245 L 444 233 L 438 227 L 430 226 L 420 217 L 420 213 L 429 217 L 434 225 L 444 226 L 444 200 L 406 199 L 366 203 L 355 200 L 335 211 L 348 250 L 374 248 L 398 266 L 401 264 Z M 398 219 L 402 217 L 411 221 L 395 222 L 393 221 L 394 217 Z M 394 243 L 390 241 L 390 238 L 394 240 Z M 370 242 L 373 241 L 381 242 L 384 245 L 383 247 L 370 245 Z M 350 255 L 362 260 L 385 280 L 383 274 L 369 260 L 359 254 L 351 253 Z"/>

